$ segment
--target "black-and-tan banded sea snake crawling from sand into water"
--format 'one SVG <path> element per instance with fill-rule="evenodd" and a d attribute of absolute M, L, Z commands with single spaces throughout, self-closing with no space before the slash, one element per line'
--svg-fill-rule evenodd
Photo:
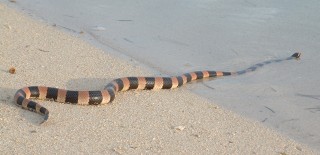
<path fill-rule="evenodd" d="M 255 71 L 266 64 L 298 59 L 300 55 L 301 53 L 294 53 L 288 58 L 264 61 L 247 69 L 236 72 L 206 70 L 185 73 L 183 75 L 173 77 L 123 77 L 114 79 L 105 86 L 104 90 L 99 91 L 73 91 L 46 86 L 28 86 L 21 88 L 16 92 L 14 101 L 24 109 L 35 111 L 44 115 L 43 122 L 45 122 L 49 118 L 49 111 L 39 103 L 30 100 L 30 98 L 53 99 L 57 102 L 81 105 L 105 104 L 112 102 L 115 98 L 116 92 L 118 91 L 126 91 L 129 89 L 172 89 L 182 86 L 185 83 L 193 80 L 208 77 L 245 74 L 247 72 Z"/>

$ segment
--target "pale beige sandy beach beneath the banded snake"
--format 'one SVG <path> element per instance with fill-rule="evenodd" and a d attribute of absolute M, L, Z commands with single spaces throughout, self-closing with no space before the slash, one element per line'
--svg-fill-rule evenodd
<path fill-rule="evenodd" d="M 183 86 L 128 91 L 101 106 L 39 101 L 49 121 L 17 107 L 28 85 L 100 90 L 117 77 L 155 73 L 0 4 L 0 150 L 3 154 L 317 154 Z M 10 67 L 16 74 L 8 73 Z M 191 85 L 196 85 L 197 82 Z M 185 87 L 185 88 L 184 88 Z"/>

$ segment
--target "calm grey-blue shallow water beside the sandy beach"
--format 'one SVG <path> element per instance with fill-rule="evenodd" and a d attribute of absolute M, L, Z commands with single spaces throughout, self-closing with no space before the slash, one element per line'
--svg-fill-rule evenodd
<path fill-rule="evenodd" d="M 320 150 L 320 1 L 0 2 L 162 75 L 241 70 L 301 51 L 299 61 L 186 88 Z"/>

